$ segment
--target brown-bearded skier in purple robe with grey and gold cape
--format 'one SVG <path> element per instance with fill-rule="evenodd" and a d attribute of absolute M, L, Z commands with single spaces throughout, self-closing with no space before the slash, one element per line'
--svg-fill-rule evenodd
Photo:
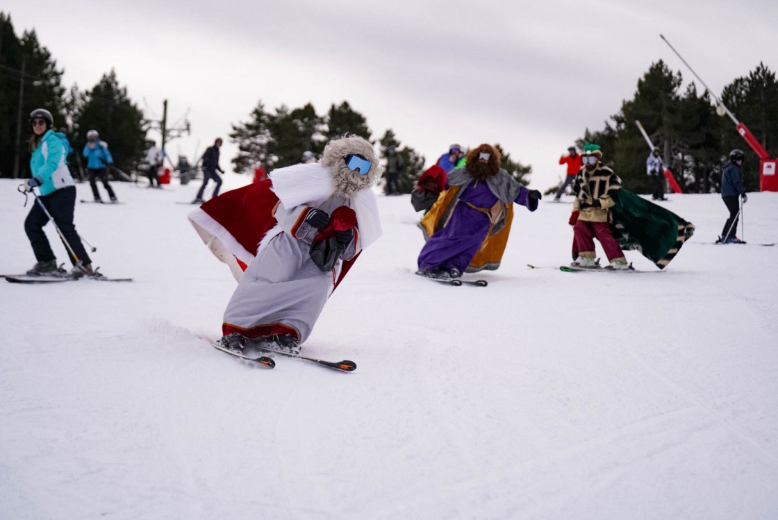
<path fill-rule="evenodd" d="M 458 278 L 467 270 L 499 267 L 513 220 L 513 203 L 538 209 L 541 193 L 521 186 L 499 167 L 499 151 L 479 145 L 447 176 L 447 190 L 422 219 L 428 238 L 419 253 L 426 277 Z"/>

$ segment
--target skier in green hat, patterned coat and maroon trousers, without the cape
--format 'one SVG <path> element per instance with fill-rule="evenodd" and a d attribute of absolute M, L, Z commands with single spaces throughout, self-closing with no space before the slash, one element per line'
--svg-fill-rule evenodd
<path fill-rule="evenodd" d="M 584 168 L 576 174 L 573 182 L 573 213 L 569 225 L 573 226 L 574 250 L 577 259 L 574 266 L 597 267 L 594 251 L 594 237 L 600 241 L 605 255 L 610 260 L 609 269 L 629 269 L 619 241 L 615 239 L 608 223 L 608 208 L 614 205 L 612 194 L 622 187 L 613 170 L 601 162 L 602 152 L 598 145 L 585 145 L 581 160 Z"/>

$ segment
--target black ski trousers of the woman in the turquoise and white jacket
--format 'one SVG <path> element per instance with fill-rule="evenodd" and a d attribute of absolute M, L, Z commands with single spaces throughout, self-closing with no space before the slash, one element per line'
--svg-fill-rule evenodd
<path fill-rule="evenodd" d="M 54 193 L 39 198 L 44 203 L 49 215 L 54 218 L 54 224 L 57 225 L 62 235 L 65 236 L 79 260 L 84 264 L 92 263 L 81 243 L 79 234 L 75 232 L 75 224 L 73 224 L 75 186 L 61 188 L 54 191 Z M 30 208 L 30 213 L 27 214 L 27 218 L 24 220 L 24 232 L 26 232 L 27 238 L 30 239 L 30 244 L 33 246 L 35 260 L 39 262 L 48 262 L 57 258 L 54 256 L 54 251 L 51 250 L 51 244 L 49 244 L 46 232 L 44 232 L 44 225 L 47 225 L 48 221 L 49 218 L 44 213 L 44 210 L 35 201 L 33 207 Z M 68 250 L 68 246 L 65 246 L 65 250 Z M 68 250 L 68 257 L 70 256 Z M 75 265 L 74 258 L 71 258 L 70 261 Z"/>

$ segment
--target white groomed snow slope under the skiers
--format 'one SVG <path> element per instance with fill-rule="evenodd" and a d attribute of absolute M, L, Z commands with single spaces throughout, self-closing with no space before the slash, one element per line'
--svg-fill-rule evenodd
<path fill-rule="evenodd" d="M 4 273 L 34 262 L 17 183 Z M 671 196 L 696 235 L 665 272 L 627 253 L 644 274 L 555 270 L 569 204 L 517 208 L 488 288 L 413 276 L 419 215 L 379 197 L 384 237 L 304 347 L 342 374 L 198 339 L 235 287 L 174 203 L 198 187 L 79 204 L 131 284 L 0 281 L 0 518 L 778 517 L 778 247 L 703 245 L 717 195 Z M 745 211 L 776 242 L 778 194 Z"/>

